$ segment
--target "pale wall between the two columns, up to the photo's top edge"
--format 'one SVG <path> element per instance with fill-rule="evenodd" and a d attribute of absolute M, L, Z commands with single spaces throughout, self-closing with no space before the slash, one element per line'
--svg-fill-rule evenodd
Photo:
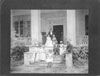
<path fill-rule="evenodd" d="M 66 10 L 58 10 L 58 11 L 42 11 L 41 13 L 41 23 L 42 23 L 42 32 L 49 32 L 49 29 L 53 29 L 53 25 L 63 25 L 64 29 L 64 38 L 67 36 L 66 33 Z"/>

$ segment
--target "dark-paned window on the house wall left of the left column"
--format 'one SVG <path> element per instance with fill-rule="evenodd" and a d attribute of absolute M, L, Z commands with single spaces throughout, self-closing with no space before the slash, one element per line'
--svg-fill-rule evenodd
<path fill-rule="evenodd" d="M 22 17 L 22 16 L 21 16 Z M 14 29 L 15 29 L 15 36 L 17 38 L 19 37 L 31 37 L 31 27 L 30 27 L 30 21 L 20 19 L 20 17 L 17 17 L 18 19 L 14 21 Z"/>

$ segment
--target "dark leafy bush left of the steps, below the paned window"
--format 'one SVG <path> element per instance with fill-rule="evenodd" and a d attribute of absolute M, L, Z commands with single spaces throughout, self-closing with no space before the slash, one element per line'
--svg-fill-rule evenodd
<path fill-rule="evenodd" d="M 11 58 L 13 60 L 21 60 L 23 59 L 24 52 L 28 52 L 29 48 L 26 46 L 15 46 L 12 48 Z"/>

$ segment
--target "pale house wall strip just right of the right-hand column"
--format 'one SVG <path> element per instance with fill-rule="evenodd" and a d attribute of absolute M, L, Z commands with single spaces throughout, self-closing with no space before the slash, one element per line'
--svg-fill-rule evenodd
<path fill-rule="evenodd" d="M 85 15 L 88 15 L 88 10 L 76 11 L 76 43 L 78 44 L 85 35 Z"/>

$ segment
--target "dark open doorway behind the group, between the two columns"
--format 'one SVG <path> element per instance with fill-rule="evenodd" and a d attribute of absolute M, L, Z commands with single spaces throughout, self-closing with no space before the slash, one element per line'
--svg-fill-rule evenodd
<path fill-rule="evenodd" d="M 55 34 L 58 43 L 63 41 L 63 25 L 54 25 L 53 33 Z"/>

